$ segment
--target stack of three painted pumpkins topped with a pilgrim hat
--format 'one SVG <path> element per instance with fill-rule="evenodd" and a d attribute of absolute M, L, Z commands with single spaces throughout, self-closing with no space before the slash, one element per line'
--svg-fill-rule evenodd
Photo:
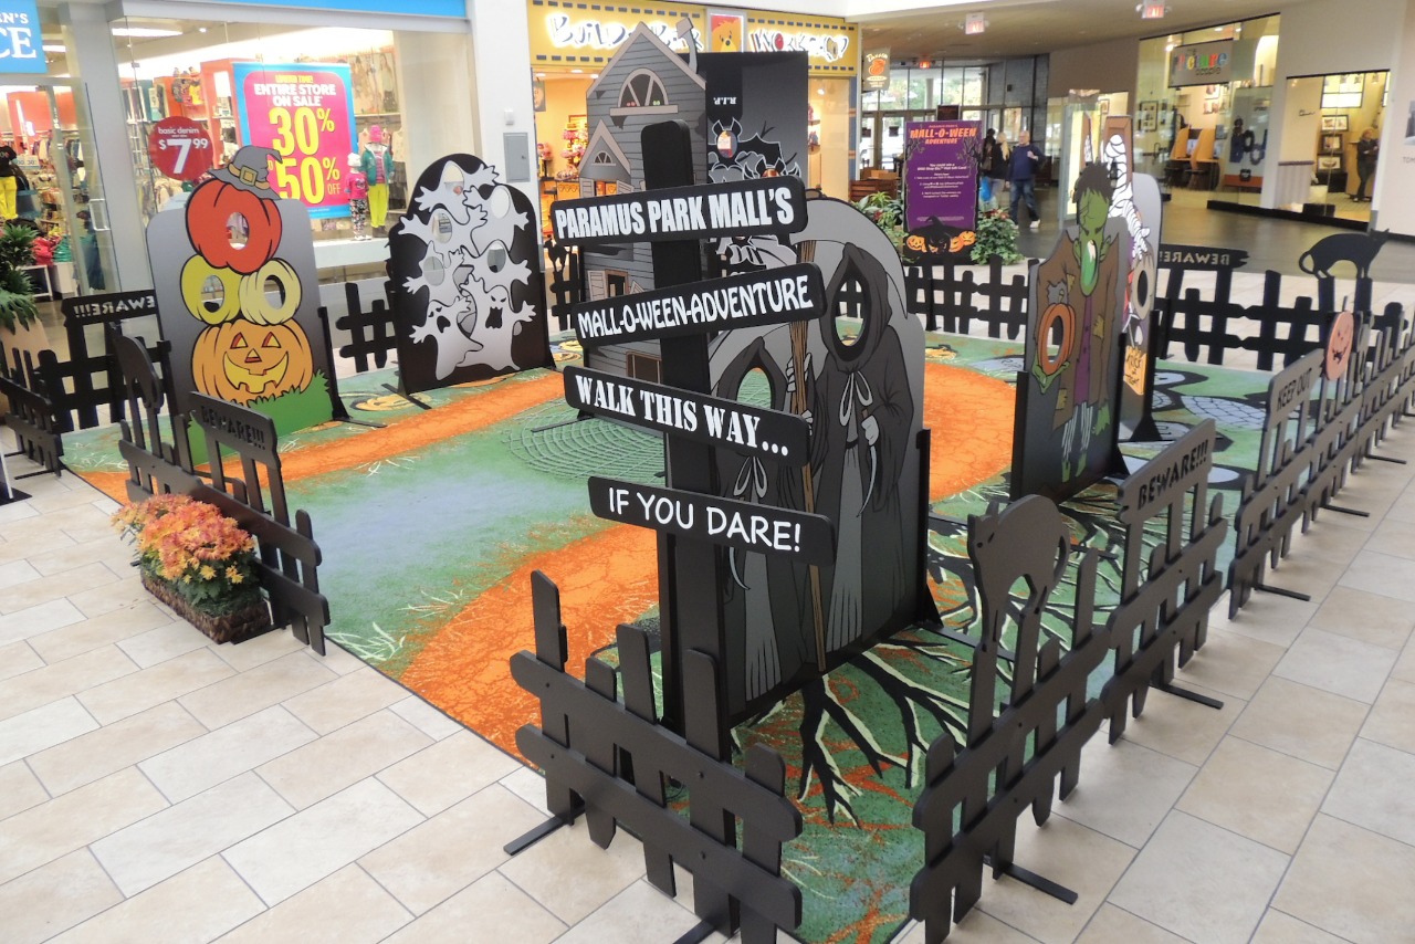
<path fill-rule="evenodd" d="M 284 226 L 269 183 L 270 156 L 242 147 L 185 207 L 195 255 L 183 266 L 181 297 L 187 313 L 207 324 L 192 347 L 192 382 L 242 406 L 304 391 L 314 379 L 310 338 L 294 318 L 300 276 L 276 256 Z"/>

